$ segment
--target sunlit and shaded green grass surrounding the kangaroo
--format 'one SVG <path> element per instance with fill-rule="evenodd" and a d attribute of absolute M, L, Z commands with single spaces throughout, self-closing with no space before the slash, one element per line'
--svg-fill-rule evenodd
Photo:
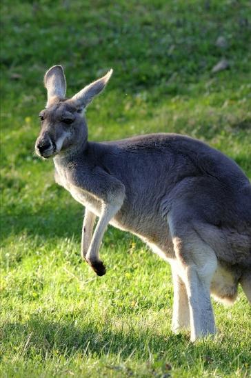
<path fill-rule="evenodd" d="M 33 150 L 45 70 L 61 63 L 71 95 L 112 67 L 88 109 L 91 140 L 181 132 L 251 177 L 250 1 L 3 0 L 1 10 L 1 376 L 248 377 L 243 292 L 232 308 L 214 303 L 215 339 L 172 335 L 169 266 L 109 228 L 108 272 L 96 277 L 79 256 L 83 209 Z M 222 57 L 230 69 L 212 74 Z"/>

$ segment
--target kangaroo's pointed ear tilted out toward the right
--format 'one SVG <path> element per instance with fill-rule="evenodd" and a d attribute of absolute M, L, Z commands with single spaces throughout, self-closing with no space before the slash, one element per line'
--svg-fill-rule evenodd
<path fill-rule="evenodd" d="M 112 76 L 112 72 L 113 70 L 108 71 L 104 77 L 90 83 L 88 86 L 75 94 L 71 99 L 74 102 L 74 106 L 76 106 L 76 108 L 79 110 L 86 108 L 92 99 L 97 96 L 97 94 L 99 94 L 103 88 L 105 88 L 106 83 L 108 83 L 108 80 Z"/>

